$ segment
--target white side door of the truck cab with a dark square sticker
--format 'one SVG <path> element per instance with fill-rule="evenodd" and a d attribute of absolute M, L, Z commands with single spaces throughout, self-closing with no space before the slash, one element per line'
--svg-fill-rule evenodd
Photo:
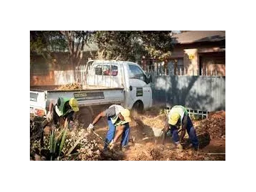
<path fill-rule="evenodd" d="M 152 105 L 152 90 L 150 83 L 147 82 L 147 77 L 142 68 L 138 65 L 128 64 L 129 70 L 129 92 L 127 99 L 129 105 L 134 105 L 137 101 L 143 102 L 144 109 L 151 107 Z M 136 105 L 139 105 L 137 102 Z M 131 106 L 129 106 L 131 107 Z M 141 107 L 141 106 L 138 106 Z"/>

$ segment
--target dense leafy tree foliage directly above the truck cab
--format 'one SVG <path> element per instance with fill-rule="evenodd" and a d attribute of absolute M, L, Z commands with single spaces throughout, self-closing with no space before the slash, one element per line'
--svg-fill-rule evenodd
<path fill-rule="evenodd" d="M 95 31 L 100 59 L 137 61 L 142 55 L 164 60 L 170 54 L 171 31 Z"/>

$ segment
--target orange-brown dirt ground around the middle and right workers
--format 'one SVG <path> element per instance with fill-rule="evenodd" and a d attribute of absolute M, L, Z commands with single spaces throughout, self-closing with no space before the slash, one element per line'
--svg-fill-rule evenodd
<path fill-rule="evenodd" d="M 225 160 L 227 159 L 227 143 L 225 139 L 225 112 L 213 112 L 208 119 L 199 119 L 194 122 L 198 135 L 200 149 L 176 149 L 171 137 L 166 138 L 166 144 L 160 144 L 161 137 L 154 137 L 155 129 L 164 127 L 165 114 L 156 110 L 149 110 L 141 115 L 136 115 L 136 120 L 130 123 L 130 142 L 127 149 L 120 151 L 118 148 L 116 158 L 125 161 L 169 161 L 169 160 Z M 104 120 L 96 129 L 102 138 L 107 133 L 107 124 Z M 188 134 L 185 136 L 188 142 Z M 103 146 L 103 145 L 102 145 Z M 119 157 L 118 157 L 119 155 Z M 105 156 L 112 159 L 113 153 Z"/>

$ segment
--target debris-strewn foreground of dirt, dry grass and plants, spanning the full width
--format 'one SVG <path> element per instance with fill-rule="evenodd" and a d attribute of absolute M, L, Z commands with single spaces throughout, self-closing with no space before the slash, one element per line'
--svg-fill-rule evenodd
<path fill-rule="evenodd" d="M 125 149 L 117 147 L 114 150 L 103 151 L 104 142 L 96 137 L 95 134 L 89 134 L 84 137 L 75 149 L 68 153 L 70 148 L 74 146 L 78 138 L 85 134 L 85 129 L 78 122 L 75 122 L 70 129 L 65 139 L 60 161 L 103 161 L 103 160 L 122 160 L 122 161 L 218 161 L 227 159 L 223 154 L 225 150 L 225 112 L 212 112 L 209 114 L 208 119 L 202 119 L 193 121 L 200 147 L 198 150 L 184 148 L 183 150 L 176 149 L 175 144 L 171 142 L 171 138 L 167 137 L 168 142 L 166 145 L 161 145 L 158 137 L 154 137 L 154 132 L 151 127 L 164 128 L 165 114 L 152 114 L 156 110 L 151 112 L 145 112 L 142 115 L 137 116 L 137 121 L 130 123 L 131 134 L 129 140 L 129 146 Z M 39 121 L 38 121 L 39 122 Z M 38 130 L 36 131 L 35 124 L 32 127 L 31 135 L 38 135 L 30 142 L 30 159 L 31 161 L 44 161 L 48 160 L 49 155 L 49 138 L 51 126 L 48 125 L 43 129 L 43 147 L 41 147 L 41 141 L 39 139 L 39 132 L 41 133 L 41 127 L 38 123 Z M 58 135 L 62 127 L 55 128 L 55 134 Z M 97 134 L 100 134 L 102 138 L 105 138 L 107 134 L 106 127 L 96 129 Z M 38 132 L 38 133 L 37 133 Z M 219 139 L 218 146 L 210 146 L 209 143 L 212 139 Z M 186 141 L 188 135 L 186 135 Z M 221 146 L 220 146 L 221 145 Z M 210 150 L 203 151 L 201 148 L 210 146 Z M 212 148 L 221 150 L 213 150 Z"/>

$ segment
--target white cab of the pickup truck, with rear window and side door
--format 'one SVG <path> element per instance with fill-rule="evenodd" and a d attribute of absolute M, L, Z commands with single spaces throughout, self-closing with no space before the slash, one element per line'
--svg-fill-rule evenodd
<path fill-rule="evenodd" d="M 129 61 L 89 61 L 87 85 L 124 88 L 124 107 L 142 112 L 152 106 L 151 77 Z"/>

